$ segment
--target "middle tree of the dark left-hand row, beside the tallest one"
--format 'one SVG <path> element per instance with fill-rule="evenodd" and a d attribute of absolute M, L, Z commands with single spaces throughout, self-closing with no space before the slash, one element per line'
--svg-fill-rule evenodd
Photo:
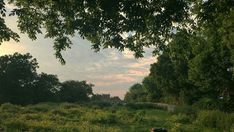
<path fill-rule="evenodd" d="M 33 88 L 34 103 L 57 101 L 61 84 L 56 75 L 41 73 L 37 76 Z"/>

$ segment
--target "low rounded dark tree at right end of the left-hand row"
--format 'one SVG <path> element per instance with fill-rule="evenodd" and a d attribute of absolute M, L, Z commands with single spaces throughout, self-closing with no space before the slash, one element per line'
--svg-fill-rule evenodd
<path fill-rule="evenodd" d="M 61 84 L 59 90 L 59 98 L 62 102 L 79 102 L 88 101 L 93 95 L 93 84 L 88 84 L 86 81 L 65 81 Z"/>

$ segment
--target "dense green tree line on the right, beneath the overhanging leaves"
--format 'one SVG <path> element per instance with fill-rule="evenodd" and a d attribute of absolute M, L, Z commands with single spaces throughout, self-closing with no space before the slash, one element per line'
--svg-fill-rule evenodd
<path fill-rule="evenodd" d="M 125 101 L 233 111 L 232 49 L 219 38 L 215 28 L 204 30 L 194 34 L 176 32 L 151 65 L 150 74 L 130 88 Z"/>

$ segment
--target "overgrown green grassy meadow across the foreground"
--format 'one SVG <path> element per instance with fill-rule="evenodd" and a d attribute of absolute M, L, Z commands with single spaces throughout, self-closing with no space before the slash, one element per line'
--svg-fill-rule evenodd
<path fill-rule="evenodd" d="M 220 111 L 195 112 L 185 108 L 169 113 L 126 106 L 2 104 L 0 131 L 149 132 L 158 127 L 172 132 L 231 132 L 233 117 Z"/>

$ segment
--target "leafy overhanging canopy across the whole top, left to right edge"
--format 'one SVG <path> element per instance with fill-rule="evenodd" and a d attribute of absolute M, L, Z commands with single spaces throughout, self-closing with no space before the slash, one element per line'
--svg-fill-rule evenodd
<path fill-rule="evenodd" d="M 20 31 L 29 38 L 45 29 L 62 63 L 61 51 L 70 48 L 77 33 L 95 51 L 114 47 L 142 57 L 143 47 L 154 46 L 157 54 L 181 29 L 200 30 L 205 36 L 215 29 L 233 49 L 233 0 L 0 0 L 0 43 L 19 38 L 6 26 L 4 2 L 15 6 L 10 15 L 17 16 Z"/>

